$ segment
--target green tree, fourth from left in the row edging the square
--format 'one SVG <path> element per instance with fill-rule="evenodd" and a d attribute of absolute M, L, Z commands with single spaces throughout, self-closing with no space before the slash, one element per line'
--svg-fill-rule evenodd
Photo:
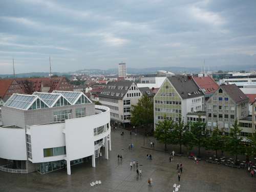
<path fill-rule="evenodd" d="M 216 127 L 212 131 L 211 136 L 206 140 L 206 148 L 216 152 L 216 157 L 218 156 L 218 150 L 222 152 L 225 150 L 226 137 L 223 135 L 224 130 Z"/>

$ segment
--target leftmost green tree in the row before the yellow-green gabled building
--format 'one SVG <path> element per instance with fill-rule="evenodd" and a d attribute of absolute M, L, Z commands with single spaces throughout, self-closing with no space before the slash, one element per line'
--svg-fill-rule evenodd
<path fill-rule="evenodd" d="M 160 142 L 164 143 L 164 150 L 167 150 L 167 144 L 173 143 L 173 129 L 174 122 L 172 120 L 167 120 L 164 116 L 163 121 L 159 121 L 156 125 L 156 130 L 154 132 L 155 138 Z"/>

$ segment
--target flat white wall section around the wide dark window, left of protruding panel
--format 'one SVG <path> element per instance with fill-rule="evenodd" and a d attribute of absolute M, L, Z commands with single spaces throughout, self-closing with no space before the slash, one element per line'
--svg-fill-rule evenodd
<path fill-rule="evenodd" d="M 66 155 L 44 157 L 44 148 L 65 146 L 65 135 L 62 133 L 65 123 L 30 126 L 32 162 L 62 160 Z"/>

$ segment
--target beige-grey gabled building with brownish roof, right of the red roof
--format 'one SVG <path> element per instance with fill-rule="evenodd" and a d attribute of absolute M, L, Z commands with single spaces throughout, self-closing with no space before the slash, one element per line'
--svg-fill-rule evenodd
<path fill-rule="evenodd" d="M 235 119 L 239 122 L 248 117 L 248 102 L 249 98 L 235 84 L 222 84 L 206 102 L 207 129 L 224 127 L 228 133 Z"/>

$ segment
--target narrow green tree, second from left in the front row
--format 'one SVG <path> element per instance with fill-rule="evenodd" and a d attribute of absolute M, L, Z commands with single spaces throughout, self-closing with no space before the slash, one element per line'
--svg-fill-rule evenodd
<path fill-rule="evenodd" d="M 179 121 L 175 122 L 174 125 L 174 144 L 180 145 L 180 154 L 182 153 L 181 146 L 185 144 L 185 133 L 187 132 L 187 126 L 184 126 L 184 121 L 181 120 L 181 116 L 179 116 Z"/>

